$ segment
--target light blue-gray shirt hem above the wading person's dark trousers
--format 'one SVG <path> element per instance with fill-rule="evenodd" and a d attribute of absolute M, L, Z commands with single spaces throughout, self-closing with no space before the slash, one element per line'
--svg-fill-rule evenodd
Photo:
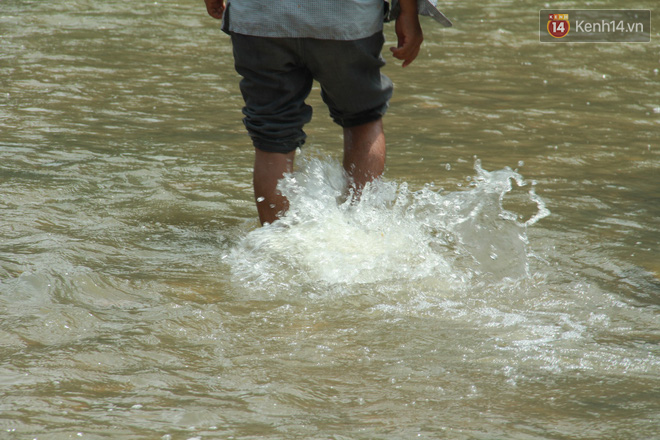
<path fill-rule="evenodd" d="M 383 30 L 384 12 L 383 0 L 228 0 L 223 29 L 258 37 L 358 40 Z"/>

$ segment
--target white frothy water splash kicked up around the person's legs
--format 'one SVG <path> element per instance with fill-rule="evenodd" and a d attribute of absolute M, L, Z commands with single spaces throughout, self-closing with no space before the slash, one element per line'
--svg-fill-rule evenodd
<path fill-rule="evenodd" d="M 228 255 L 242 285 L 432 279 L 460 289 L 529 276 L 526 229 L 549 211 L 533 189 L 527 197 L 537 212 L 529 220 L 504 209 L 512 183 L 526 184 L 509 168 L 488 172 L 477 161 L 471 185 L 447 193 L 380 179 L 356 201 L 336 161 L 303 156 L 299 165 L 279 185 L 290 202 L 286 215 L 249 232 Z"/>

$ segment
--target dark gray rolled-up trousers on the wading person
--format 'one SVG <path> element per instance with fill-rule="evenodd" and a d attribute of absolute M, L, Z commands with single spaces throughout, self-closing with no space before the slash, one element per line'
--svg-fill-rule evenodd
<path fill-rule="evenodd" d="M 385 114 L 392 81 L 380 72 L 382 32 L 360 40 L 267 38 L 232 33 L 236 71 L 245 100 L 243 122 L 255 147 L 288 153 L 305 142 L 312 119 L 305 99 L 313 80 L 332 119 L 342 127 Z"/>

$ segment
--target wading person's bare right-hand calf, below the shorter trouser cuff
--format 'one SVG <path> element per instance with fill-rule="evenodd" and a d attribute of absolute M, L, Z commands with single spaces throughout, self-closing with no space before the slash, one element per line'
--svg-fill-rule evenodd
<path fill-rule="evenodd" d="M 383 120 L 344 128 L 344 169 L 358 192 L 385 170 Z"/>

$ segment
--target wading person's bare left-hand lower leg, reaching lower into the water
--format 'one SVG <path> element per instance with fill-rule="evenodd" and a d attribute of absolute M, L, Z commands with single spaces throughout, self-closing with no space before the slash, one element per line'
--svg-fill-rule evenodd
<path fill-rule="evenodd" d="M 293 170 L 295 150 L 287 153 L 267 153 L 255 148 L 254 198 L 261 224 L 273 223 L 278 214 L 289 208 L 288 200 L 277 191 L 277 182 Z"/>

